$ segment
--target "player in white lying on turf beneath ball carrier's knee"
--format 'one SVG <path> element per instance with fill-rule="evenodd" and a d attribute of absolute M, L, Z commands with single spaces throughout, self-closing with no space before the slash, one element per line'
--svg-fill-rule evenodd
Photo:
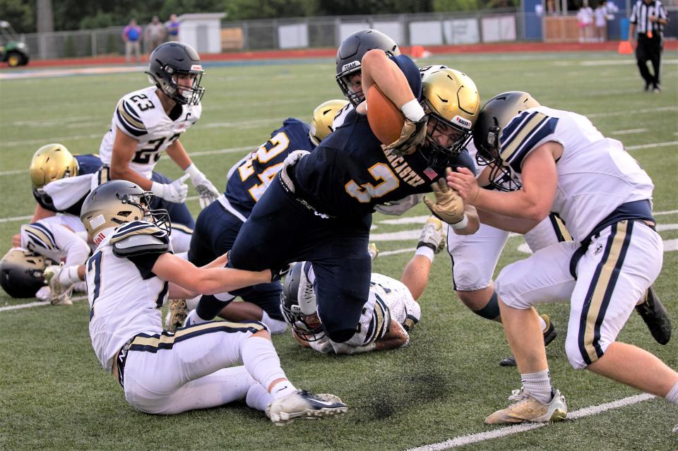
<path fill-rule="evenodd" d="M 359 332 L 343 343 L 333 342 L 323 332 L 316 313 L 316 278 L 310 262 L 299 262 L 285 277 L 280 309 L 303 347 L 324 354 L 356 354 L 398 349 L 410 342 L 410 330 L 421 318 L 417 299 L 429 279 L 434 254 L 445 248 L 446 227 L 429 217 L 422 228 L 417 250 L 403 270 L 400 281 L 372 273 L 369 296 L 359 320 Z M 376 256 L 376 255 L 375 255 Z"/>

